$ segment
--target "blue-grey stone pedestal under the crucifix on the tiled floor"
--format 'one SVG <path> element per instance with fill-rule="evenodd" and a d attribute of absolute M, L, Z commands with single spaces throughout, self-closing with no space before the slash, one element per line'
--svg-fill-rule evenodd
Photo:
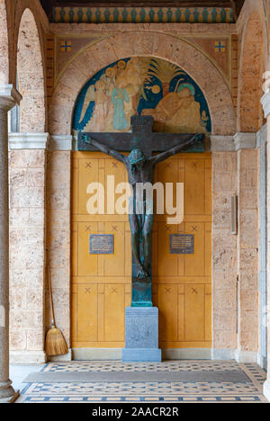
<path fill-rule="evenodd" d="M 123 362 L 160 362 L 157 307 L 127 307 Z"/>

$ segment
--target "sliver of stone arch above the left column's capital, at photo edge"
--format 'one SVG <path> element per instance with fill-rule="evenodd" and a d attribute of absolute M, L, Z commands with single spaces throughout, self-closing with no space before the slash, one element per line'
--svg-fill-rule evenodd
<path fill-rule="evenodd" d="M 8 84 L 8 33 L 5 1 L 0 0 L 0 85 Z"/>

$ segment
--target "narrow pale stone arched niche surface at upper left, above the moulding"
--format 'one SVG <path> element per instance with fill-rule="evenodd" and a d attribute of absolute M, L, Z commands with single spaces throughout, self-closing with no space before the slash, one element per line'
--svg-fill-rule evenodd
<path fill-rule="evenodd" d="M 40 36 L 33 13 L 25 9 L 18 31 L 18 89 L 23 95 L 20 131 L 44 132 L 46 112 Z"/>

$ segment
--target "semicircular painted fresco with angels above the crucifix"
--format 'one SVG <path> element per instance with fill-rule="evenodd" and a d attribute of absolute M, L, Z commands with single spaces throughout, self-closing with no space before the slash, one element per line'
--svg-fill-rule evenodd
<path fill-rule="evenodd" d="M 76 122 L 80 127 L 75 130 L 127 132 L 130 118 L 138 115 L 141 104 L 143 109 L 140 106 L 139 113 L 153 115 L 155 131 L 206 133 L 210 126 L 207 106 L 201 111 L 202 105 L 195 100 L 194 85 L 184 82 L 183 76 L 180 67 L 164 60 L 148 57 L 119 60 L 88 87 L 81 117 Z M 169 92 L 172 80 L 177 82 L 175 92 Z"/>

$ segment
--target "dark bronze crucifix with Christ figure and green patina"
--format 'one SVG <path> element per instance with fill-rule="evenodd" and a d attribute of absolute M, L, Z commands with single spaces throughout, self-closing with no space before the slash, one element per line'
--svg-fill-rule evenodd
<path fill-rule="evenodd" d="M 153 184 L 155 167 L 175 154 L 204 152 L 204 135 L 154 133 L 151 116 L 131 117 L 131 133 L 79 133 L 78 150 L 100 150 L 126 166 L 131 186 L 131 307 L 152 307 L 151 236 L 153 206 L 139 194 L 139 184 Z M 129 157 L 121 152 L 130 152 Z M 152 155 L 158 152 L 157 155 Z M 149 211 L 150 209 L 150 211 Z"/>

